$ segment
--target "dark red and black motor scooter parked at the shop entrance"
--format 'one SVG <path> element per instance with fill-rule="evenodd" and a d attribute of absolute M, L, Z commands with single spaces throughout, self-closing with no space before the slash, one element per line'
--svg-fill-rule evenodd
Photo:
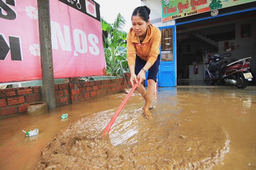
<path fill-rule="evenodd" d="M 230 51 L 231 48 L 226 51 Z M 208 51 L 205 51 L 209 54 Z M 250 63 L 247 62 L 251 57 L 239 59 L 231 63 L 222 63 L 222 59 L 227 58 L 225 54 L 212 54 L 207 59 L 210 59 L 208 66 L 209 81 L 211 85 L 220 82 L 235 85 L 238 88 L 246 88 L 248 82 L 252 81 L 252 74 L 249 71 Z M 216 85 L 217 85 L 216 84 Z"/>

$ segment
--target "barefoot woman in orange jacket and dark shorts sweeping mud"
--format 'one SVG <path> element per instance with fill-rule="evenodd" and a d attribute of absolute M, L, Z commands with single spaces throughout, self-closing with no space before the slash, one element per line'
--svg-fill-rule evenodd
<path fill-rule="evenodd" d="M 151 118 L 149 106 L 155 90 L 156 75 L 160 64 L 161 32 L 150 23 L 150 9 L 140 6 L 132 13 L 132 28 L 127 34 L 127 61 L 131 72 L 132 86 L 138 82 L 137 90 L 144 97 L 143 113 L 146 119 Z M 146 79 L 147 89 L 141 84 Z"/>

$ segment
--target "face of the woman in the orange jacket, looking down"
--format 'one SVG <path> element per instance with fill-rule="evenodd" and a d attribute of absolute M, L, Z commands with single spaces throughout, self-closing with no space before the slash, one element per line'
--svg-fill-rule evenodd
<path fill-rule="evenodd" d="M 132 17 L 132 29 L 137 36 L 146 35 L 148 24 L 149 20 L 146 22 L 139 16 Z"/>

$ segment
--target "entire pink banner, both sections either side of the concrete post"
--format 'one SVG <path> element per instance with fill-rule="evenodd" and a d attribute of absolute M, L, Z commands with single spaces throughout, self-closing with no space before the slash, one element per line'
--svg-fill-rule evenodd
<path fill-rule="evenodd" d="M 0 0 L 0 83 L 40 80 L 37 0 Z M 50 1 L 54 78 L 105 75 L 99 4 Z"/>

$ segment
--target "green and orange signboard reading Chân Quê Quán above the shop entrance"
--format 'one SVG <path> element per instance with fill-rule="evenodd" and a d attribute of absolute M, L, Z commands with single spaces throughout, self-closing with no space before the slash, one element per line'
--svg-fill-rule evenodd
<path fill-rule="evenodd" d="M 162 0 L 162 22 L 207 11 L 212 11 L 215 16 L 218 14 L 216 9 L 253 1 L 256 0 Z"/>

